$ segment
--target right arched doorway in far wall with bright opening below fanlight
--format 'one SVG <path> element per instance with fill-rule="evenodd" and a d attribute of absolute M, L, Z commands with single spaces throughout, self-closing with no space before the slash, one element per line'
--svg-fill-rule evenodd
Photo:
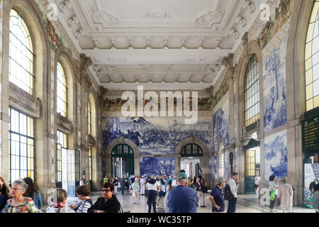
<path fill-rule="evenodd" d="M 196 143 L 188 143 L 181 148 L 181 170 L 189 177 L 201 175 L 201 158 L 203 149 Z"/>

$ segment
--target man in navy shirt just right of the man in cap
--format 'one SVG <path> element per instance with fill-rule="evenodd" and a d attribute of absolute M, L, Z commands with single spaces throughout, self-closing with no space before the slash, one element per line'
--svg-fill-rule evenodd
<path fill-rule="evenodd" d="M 217 186 L 211 191 L 211 196 L 209 200 L 213 204 L 212 211 L 214 212 L 224 212 L 225 211 L 225 200 L 222 194 L 222 189 L 225 187 L 225 179 L 220 177 L 217 181 Z"/>

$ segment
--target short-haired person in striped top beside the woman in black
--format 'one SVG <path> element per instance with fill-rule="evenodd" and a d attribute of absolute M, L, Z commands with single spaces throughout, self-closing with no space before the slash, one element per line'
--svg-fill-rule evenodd
<path fill-rule="evenodd" d="M 92 199 L 89 197 L 89 188 L 85 185 L 78 186 L 75 192 L 77 193 L 77 197 L 81 199 L 81 202 L 77 206 L 69 205 L 69 207 L 74 210 L 75 213 L 87 213 L 87 209 L 93 205 Z"/>

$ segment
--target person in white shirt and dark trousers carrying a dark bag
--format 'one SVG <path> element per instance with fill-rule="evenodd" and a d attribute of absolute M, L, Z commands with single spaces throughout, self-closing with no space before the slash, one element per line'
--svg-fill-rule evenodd
<path fill-rule="evenodd" d="M 225 187 L 225 200 L 228 200 L 227 213 L 236 212 L 238 173 L 233 172 Z"/>

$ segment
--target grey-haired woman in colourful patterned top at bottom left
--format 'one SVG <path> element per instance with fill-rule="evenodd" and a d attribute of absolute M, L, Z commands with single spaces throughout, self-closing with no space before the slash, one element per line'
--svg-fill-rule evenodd
<path fill-rule="evenodd" d="M 13 182 L 10 188 L 12 199 L 6 201 L 6 206 L 1 210 L 1 213 L 40 213 L 35 207 L 33 199 L 23 196 L 27 189 L 28 184 L 23 180 L 17 179 Z"/>

